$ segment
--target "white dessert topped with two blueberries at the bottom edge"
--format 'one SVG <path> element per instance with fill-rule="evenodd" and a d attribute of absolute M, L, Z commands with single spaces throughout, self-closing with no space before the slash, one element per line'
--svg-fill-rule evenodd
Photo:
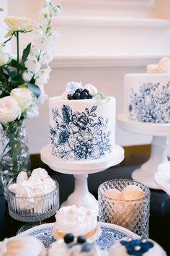
<path fill-rule="evenodd" d="M 66 234 L 58 239 L 48 250 L 48 256 L 102 256 L 96 244 L 86 242 L 84 236 L 74 238 L 73 234 Z"/>

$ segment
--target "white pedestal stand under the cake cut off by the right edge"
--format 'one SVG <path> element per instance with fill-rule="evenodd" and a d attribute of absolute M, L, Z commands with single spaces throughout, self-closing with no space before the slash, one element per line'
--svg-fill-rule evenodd
<path fill-rule="evenodd" d="M 170 124 L 153 124 L 128 119 L 128 115 L 122 113 L 117 116 L 117 123 L 120 128 L 129 132 L 152 135 L 151 155 L 146 163 L 139 169 L 133 171 L 132 178 L 136 182 L 141 182 L 151 189 L 160 189 L 154 182 L 158 165 L 168 161 L 167 136 L 170 135 Z"/>

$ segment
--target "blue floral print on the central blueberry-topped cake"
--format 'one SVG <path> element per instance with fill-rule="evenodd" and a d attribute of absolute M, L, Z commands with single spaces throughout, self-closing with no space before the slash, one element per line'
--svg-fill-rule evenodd
<path fill-rule="evenodd" d="M 63 105 L 61 114 L 58 108 L 52 109 L 55 127 L 50 126 L 50 139 L 53 155 L 74 160 L 91 160 L 104 157 L 111 152 L 108 119 L 95 113 L 97 106 L 85 108 L 84 112 L 73 112 L 70 106 Z"/>

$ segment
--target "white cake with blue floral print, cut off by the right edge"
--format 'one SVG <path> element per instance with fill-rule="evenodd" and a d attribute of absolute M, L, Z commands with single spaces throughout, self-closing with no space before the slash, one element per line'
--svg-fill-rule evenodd
<path fill-rule="evenodd" d="M 124 112 L 134 121 L 170 123 L 170 59 L 147 67 L 147 73 L 125 74 Z"/>

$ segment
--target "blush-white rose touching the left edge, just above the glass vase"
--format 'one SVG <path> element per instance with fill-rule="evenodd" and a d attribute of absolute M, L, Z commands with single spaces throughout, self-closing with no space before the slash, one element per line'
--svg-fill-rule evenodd
<path fill-rule="evenodd" d="M 0 121 L 7 123 L 8 121 L 14 121 L 21 115 L 21 109 L 15 98 L 12 96 L 6 96 L 0 98 Z"/>

